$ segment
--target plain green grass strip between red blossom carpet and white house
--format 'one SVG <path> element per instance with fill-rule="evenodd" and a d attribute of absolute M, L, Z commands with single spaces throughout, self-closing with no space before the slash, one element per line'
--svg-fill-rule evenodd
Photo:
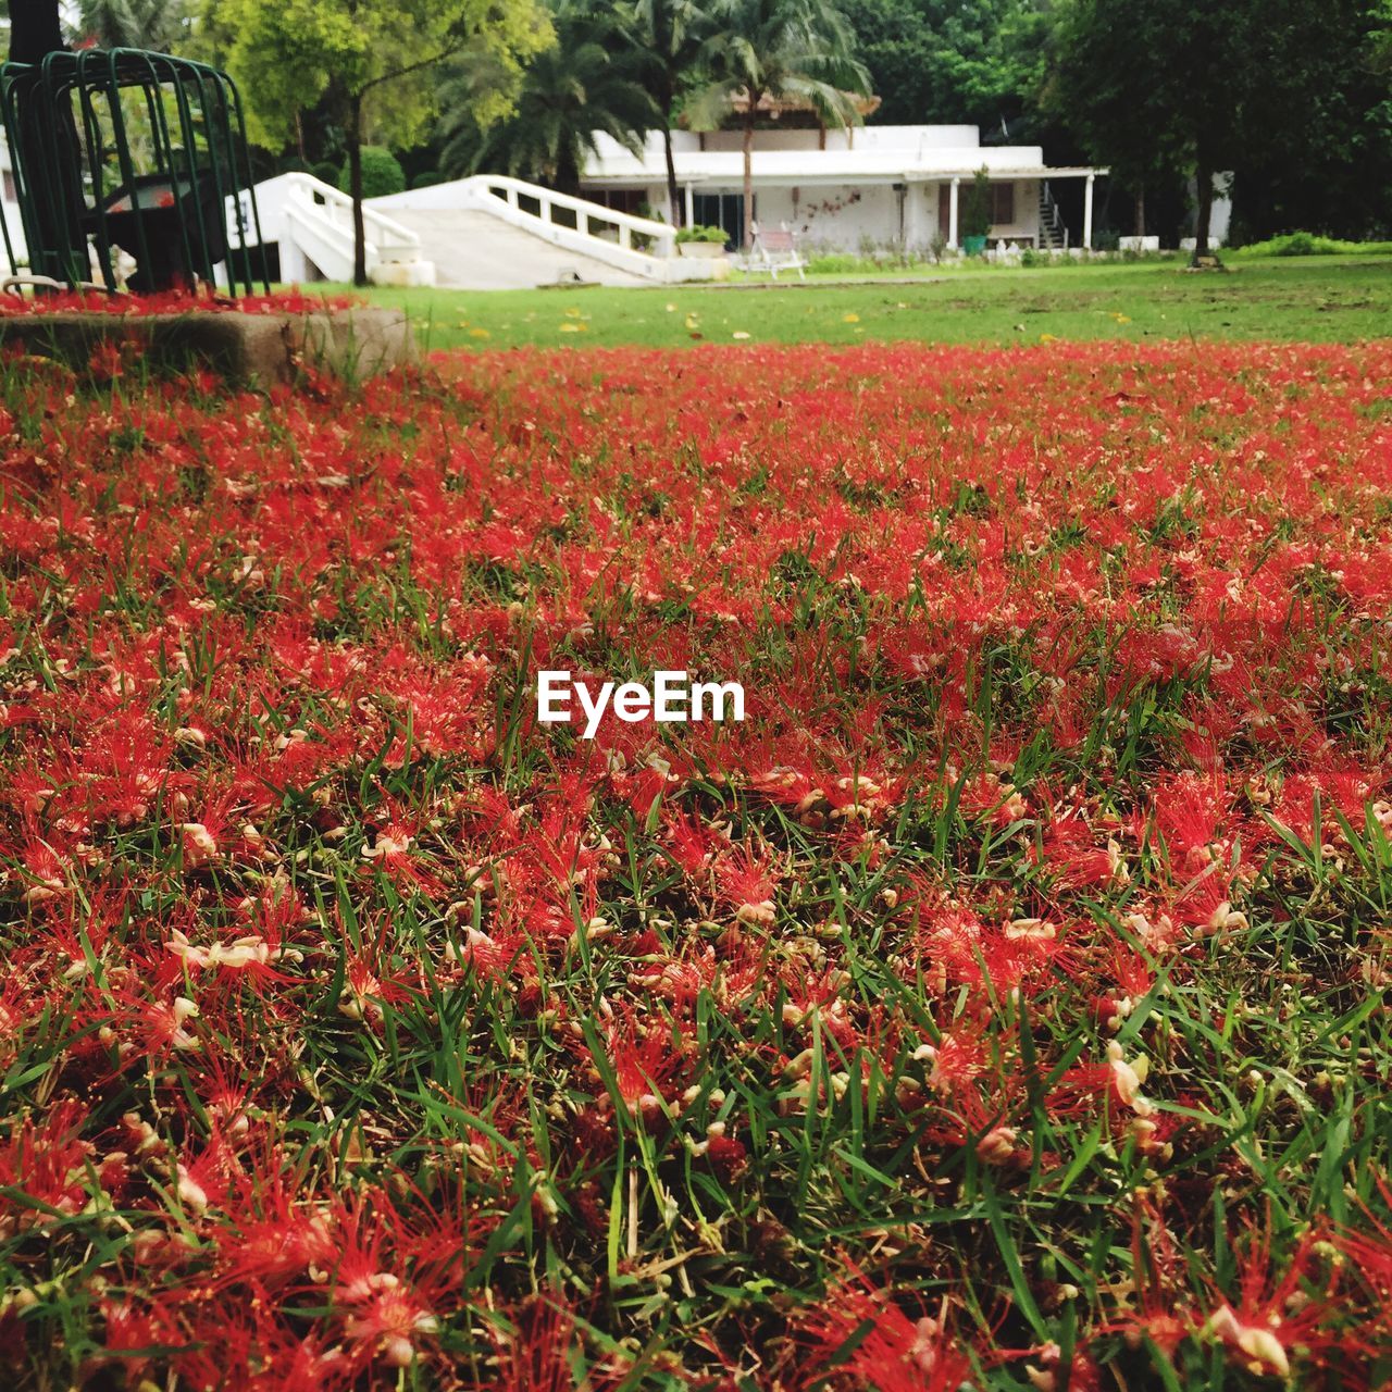
<path fill-rule="evenodd" d="M 326 287 L 342 290 L 342 287 Z M 1048 342 L 1186 337 L 1349 342 L 1392 326 L 1392 258 L 944 270 L 892 281 L 468 292 L 373 290 L 432 349 L 693 342 Z"/>

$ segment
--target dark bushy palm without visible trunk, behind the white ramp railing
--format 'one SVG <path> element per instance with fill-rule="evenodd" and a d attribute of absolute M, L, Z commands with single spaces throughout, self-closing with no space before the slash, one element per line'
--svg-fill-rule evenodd
<path fill-rule="evenodd" d="M 635 155 L 658 124 L 658 111 L 638 78 L 632 45 L 612 18 L 561 0 L 553 10 L 555 45 L 539 53 L 522 77 L 511 116 L 480 128 L 470 93 L 494 75 L 465 64 L 443 93 L 447 174 L 480 170 L 536 180 L 576 193 L 587 155 L 610 135 Z"/>

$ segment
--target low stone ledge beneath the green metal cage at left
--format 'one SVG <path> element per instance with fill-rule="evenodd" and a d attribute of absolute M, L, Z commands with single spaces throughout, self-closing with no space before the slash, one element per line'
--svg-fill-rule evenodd
<path fill-rule="evenodd" d="M 370 306 L 269 315 L 61 310 L 0 316 L 0 347 L 17 342 L 75 370 L 86 367 L 102 344 L 134 344 L 156 370 L 207 367 L 234 386 L 288 381 L 296 362 L 356 380 L 411 362 L 416 354 L 406 316 Z"/>

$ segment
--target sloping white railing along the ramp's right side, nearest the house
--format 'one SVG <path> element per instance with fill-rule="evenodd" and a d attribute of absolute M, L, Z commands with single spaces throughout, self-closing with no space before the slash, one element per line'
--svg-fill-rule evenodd
<path fill-rule="evenodd" d="M 579 252 L 646 280 L 707 280 L 709 262 L 677 255 L 677 230 L 585 198 L 558 193 L 507 174 L 475 174 L 373 199 L 379 209 L 470 209 L 490 213 L 555 246 Z"/>

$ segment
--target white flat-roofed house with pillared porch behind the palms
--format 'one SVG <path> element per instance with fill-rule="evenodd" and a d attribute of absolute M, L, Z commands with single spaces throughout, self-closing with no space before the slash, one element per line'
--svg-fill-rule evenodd
<path fill-rule="evenodd" d="M 738 241 L 743 223 L 741 131 L 675 131 L 672 153 L 688 223 L 721 226 Z M 976 171 L 991 175 L 990 239 L 1058 248 L 1068 232 L 1054 200 L 1062 180 L 1084 182 L 1080 244 L 1091 246 L 1093 184 L 1107 170 L 1054 168 L 1037 145 L 983 145 L 974 125 L 866 125 L 842 131 L 754 132 L 754 220 L 785 226 L 809 246 L 924 251 L 960 242 L 959 220 Z M 667 207 L 661 135 L 640 156 L 600 136 L 580 177 L 586 198 L 624 212 Z"/>

